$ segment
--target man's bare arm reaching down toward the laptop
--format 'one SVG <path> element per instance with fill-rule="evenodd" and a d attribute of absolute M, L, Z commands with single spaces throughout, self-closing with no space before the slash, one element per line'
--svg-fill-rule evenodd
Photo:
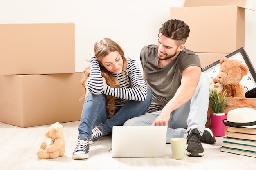
<path fill-rule="evenodd" d="M 164 106 L 152 125 L 165 125 L 168 128 L 170 113 L 191 99 L 195 93 L 200 75 L 201 68 L 198 66 L 189 66 L 183 71 L 180 87 L 173 98 Z"/>

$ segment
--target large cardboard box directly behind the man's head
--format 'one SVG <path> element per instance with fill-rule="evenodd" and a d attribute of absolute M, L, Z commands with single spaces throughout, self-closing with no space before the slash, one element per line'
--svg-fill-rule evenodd
<path fill-rule="evenodd" d="M 190 27 L 186 47 L 195 53 L 232 53 L 245 45 L 245 8 L 171 7 L 171 18 Z"/>

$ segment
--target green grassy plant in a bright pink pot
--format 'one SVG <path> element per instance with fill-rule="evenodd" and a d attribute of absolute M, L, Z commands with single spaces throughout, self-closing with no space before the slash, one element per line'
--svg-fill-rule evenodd
<path fill-rule="evenodd" d="M 226 126 L 223 120 L 227 119 L 227 114 L 224 109 L 230 97 L 226 96 L 225 91 L 217 93 L 216 89 L 210 89 L 209 106 L 212 108 L 213 113 L 209 114 L 211 131 L 214 136 L 225 136 Z"/>

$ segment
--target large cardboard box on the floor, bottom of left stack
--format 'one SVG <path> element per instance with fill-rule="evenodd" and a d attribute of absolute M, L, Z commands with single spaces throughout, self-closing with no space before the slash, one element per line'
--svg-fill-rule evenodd
<path fill-rule="evenodd" d="M 82 76 L 0 75 L 0 121 L 20 127 L 79 121 Z"/>

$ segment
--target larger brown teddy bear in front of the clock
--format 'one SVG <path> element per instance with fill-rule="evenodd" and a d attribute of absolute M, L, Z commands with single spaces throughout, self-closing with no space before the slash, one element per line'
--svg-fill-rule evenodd
<path fill-rule="evenodd" d="M 240 81 L 248 73 L 248 66 L 239 60 L 228 60 L 223 57 L 220 59 L 218 75 L 210 80 L 210 89 L 216 88 L 217 92 L 225 91 L 227 97 L 245 97 L 245 89 Z"/>

